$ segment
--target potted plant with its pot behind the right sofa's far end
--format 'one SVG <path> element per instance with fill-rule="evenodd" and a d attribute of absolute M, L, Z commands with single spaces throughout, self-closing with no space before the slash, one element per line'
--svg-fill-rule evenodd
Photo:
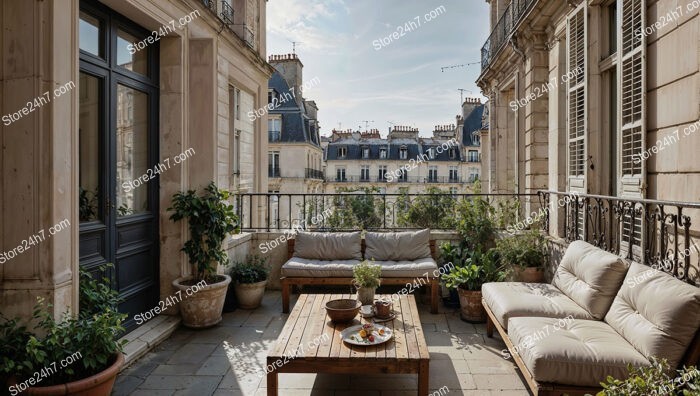
<path fill-rule="evenodd" d="M 516 280 L 531 283 L 544 281 L 546 242 L 538 230 L 501 238 L 496 241 L 496 249 L 503 263 L 514 270 Z"/>

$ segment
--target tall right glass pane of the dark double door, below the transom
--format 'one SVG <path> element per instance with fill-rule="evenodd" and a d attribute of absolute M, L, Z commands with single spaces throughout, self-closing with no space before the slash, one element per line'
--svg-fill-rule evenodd
<path fill-rule="evenodd" d="M 148 210 L 148 95 L 117 85 L 117 215 Z"/>

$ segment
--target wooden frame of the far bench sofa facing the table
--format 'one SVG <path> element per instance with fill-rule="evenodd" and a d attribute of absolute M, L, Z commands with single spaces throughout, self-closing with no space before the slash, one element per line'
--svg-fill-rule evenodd
<path fill-rule="evenodd" d="M 287 260 L 294 256 L 294 239 L 287 240 Z M 365 254 L 365 240 L 362 240 L 362 256 Z M 435 241 L 430 240 L 430 256 L 437 261 L 435 253 Z M 315 277 L 281 277 L 282 282 L 282 313 L 289 313 L 289 297 L 291 294 L 291 288 L 294 285 L 352 285 L 353 278 L 315 278 Z M 407 283 L 413 283 L 416 278 L 382 278 L 382 284 L 384 285 L 405 285 Z M 436 314 L 438 312 L 438 300 L 440 291 L 440 278 L 429 276 L 428 285 L 430 286 L 430 313 Z"/>

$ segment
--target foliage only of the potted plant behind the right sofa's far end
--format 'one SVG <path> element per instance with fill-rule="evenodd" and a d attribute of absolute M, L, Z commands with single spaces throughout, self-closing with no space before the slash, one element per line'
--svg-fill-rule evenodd
<path fill-rule="evenodd" d="M 547 257 L 544 235 L 536 229 L 496 241 L 504 263 L 521 268 L 542 268 Z"/>

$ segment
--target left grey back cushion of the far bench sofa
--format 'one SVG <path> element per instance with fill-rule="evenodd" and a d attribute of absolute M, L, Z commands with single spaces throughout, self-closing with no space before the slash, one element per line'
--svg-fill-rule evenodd
<path fill-rule="evenodd" d="M 299 232 L 294 257 L 315 260 L 362 260 L 360 232 Z"/>

